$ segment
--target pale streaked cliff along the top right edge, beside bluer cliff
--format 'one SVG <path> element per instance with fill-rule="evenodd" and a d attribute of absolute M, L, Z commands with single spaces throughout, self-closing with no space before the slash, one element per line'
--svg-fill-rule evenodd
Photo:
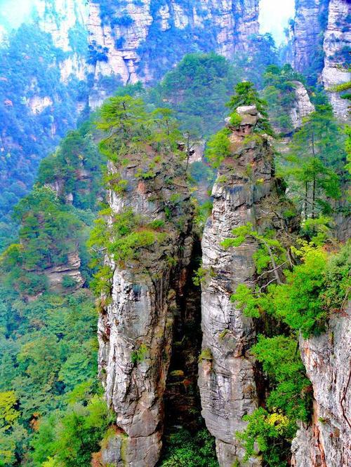
<path fill-rule="evenodd" d="M 329 92 L 329 100 L 336 116 L 346 120 L 348 101 L 340 93 L 332 92 L 334 86 L 351 80 L 351 3 L 347 0 L 330 0 L 328 24 L 324 33 L 324 69 L 322 81 Z"/>

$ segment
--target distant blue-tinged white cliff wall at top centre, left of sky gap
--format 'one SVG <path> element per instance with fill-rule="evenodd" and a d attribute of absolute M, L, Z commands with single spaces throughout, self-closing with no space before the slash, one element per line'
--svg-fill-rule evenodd
<path fill-rule="evenodd" d="M 185 53 L 215 49 L 232 58 L 258 33 L 258 0 L 128 0 L 89 4 L 90 72 L 125 83 L 159 79 Z M 180 55 L 179 55 L 180 54 Z"/>

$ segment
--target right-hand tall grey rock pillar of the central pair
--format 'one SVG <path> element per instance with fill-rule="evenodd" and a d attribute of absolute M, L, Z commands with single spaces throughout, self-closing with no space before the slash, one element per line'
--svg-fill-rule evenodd
<path fill-rule="evenodd" d="M 244 451 L 235 433 L 245 428 L 245 414 L 258 406 L 255 363 L 249 348 L 255 339 L 253 321 L 230 302 L 237 285 L 254 285 L 255 243 L 224 250 L 220 243 L 234 227 L 261 217 L 261 206 L 273 191 L 272 149 L 267 137 L 253 133 L 256 107 L 239 107 L 239 129 L 230 135 L 232 154 L 223 161 L 213 187 L 213 211 L 202 240 L 202 351 L 199 388 L 202 415 L 216 437 L 221 467 L 232 467 Z M 264 215 L 263 215 L 264 217 Z M 249 461 L 259 466 L 258 459 Z"/>

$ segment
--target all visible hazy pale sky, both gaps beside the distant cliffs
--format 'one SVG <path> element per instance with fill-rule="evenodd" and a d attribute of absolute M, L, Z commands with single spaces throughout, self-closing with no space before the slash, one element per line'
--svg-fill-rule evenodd
<path fill-rule="evenodd" d="M 31 11 L 33 0 L 0 0 L 0 24 L 18 27 Z M 261 32 L 271 32 L 279 44 L 293 17 L 294 0 L 260 0 Z"/>

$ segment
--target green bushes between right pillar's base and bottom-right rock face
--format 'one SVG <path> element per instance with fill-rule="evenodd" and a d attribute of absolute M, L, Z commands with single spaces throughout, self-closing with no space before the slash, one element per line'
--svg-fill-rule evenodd
<path fill-rule="evenodd" d="M 312 405 L 310 381 L 294 336 L 258 336 L 251 348 L 270 381 L 267 410 L 262 407 L 244 417 L 248 426 L 237 438 L 244 443 L 245 459 L 262 455 L 267 466 L 286 466 L 297 421 L 308 421 Z M 258 450 L 256 451 L 256 446 Z"/>

